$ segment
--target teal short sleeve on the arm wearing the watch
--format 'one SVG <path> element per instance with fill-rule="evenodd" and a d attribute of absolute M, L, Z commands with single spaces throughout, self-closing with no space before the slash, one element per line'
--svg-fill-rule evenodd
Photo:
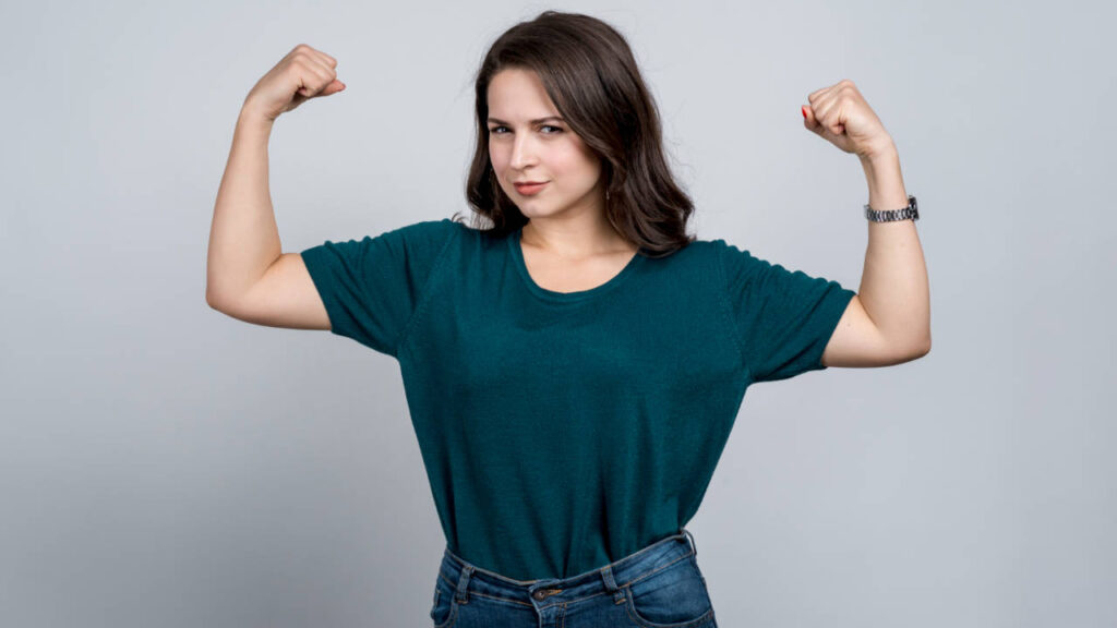
<path fill-rule="evenodd" d="M 715 240 L 745 368 L 754 382 L 825 369 L 822 352 L 857 294 Z"/>

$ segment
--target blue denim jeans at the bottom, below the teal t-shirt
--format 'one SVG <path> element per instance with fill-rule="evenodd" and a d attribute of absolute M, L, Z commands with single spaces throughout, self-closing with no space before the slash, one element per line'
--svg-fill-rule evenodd
<path fill-rule="evenodd" d="M 436 628 L 716 628 L 694 535 L 682 530 L 563 580 L 512 580 L 447 548 L 435 583 Z"/>

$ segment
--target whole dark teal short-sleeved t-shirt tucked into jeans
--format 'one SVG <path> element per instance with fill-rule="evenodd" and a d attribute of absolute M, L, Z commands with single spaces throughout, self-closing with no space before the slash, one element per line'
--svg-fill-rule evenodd
<path fill-rule="evenodd" d="M 720 239 L 557 293 L 519 234 L 429 220 L 302 255 L 332 332 L 398 360 L 450 551 L 569 578 L 679 533 L 745 389 L 825 369 L 855 293 Z"/>

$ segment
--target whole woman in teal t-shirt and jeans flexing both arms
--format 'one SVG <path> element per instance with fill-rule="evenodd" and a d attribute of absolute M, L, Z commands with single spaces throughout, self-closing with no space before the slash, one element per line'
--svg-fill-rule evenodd
<path fill-rule="evenodd" d="M 436 626 L 716 626 L 682 526 L 745 390 L 929 351 L 914 221 L 868 213 L 860 294 L 687 236 L 693 203 L 627 41 L 546 11 L 503 34 L 476 77 L 466 192 L 484 225 L 421 221 L 280 255 L 267 136 L 344 88 L 335 67 L 299 46 L 246 98 L 210 304 L 399 361 L 447 540 Z M 804 124 L 859 156 L 869 206 L 906 204 L 895 145 L 856 87 L 810 102 Z"/>

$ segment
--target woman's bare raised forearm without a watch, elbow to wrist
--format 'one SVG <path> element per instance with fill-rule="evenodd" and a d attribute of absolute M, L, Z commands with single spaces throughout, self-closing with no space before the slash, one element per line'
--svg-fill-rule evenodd
<path fill-rule="evenodd" d="M 273 121 L 241 110 L 210 226 L 206 301 L 216 306 L 245 294 L 281 254 L 268 190 Z"/>

